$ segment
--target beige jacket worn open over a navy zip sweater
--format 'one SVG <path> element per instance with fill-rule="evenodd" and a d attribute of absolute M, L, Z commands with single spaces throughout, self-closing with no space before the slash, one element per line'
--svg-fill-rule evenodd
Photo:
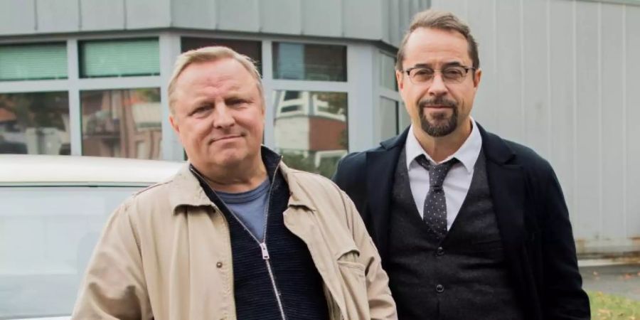
<path fill-rule="evenodd" d="M 397 319 L 388 277 L 346 196 L 329 179 L 280 170 L 291 197 L 284 225 L 309 247 L 331 319 Z M 236 319 L 225 217 L 185 166 L 111 216 L 72 319 Z"/>

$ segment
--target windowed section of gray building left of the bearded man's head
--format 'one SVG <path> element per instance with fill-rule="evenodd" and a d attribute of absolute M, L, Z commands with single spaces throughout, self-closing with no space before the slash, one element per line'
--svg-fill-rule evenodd
<path fill-rule="evenodd" d="M 265 86 L 265 144 L 330 176 L 407 125 L 395 50 L 407 0 L 0 1 L 0 152 L 183 160 L 176 56 L 228 46 Z M 365 134 L 366 133 L 366 134 Z"/>

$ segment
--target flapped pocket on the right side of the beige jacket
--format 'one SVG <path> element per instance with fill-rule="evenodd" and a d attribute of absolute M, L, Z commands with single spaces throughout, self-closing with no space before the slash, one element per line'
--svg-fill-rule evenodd
<path fill-rule="evenodd" d="M 365 266 L 357 262 L 358 250 L 351 250 L 338 258 L 342 291 L 346 310 L 344 319 L 370 319 Z"/>

